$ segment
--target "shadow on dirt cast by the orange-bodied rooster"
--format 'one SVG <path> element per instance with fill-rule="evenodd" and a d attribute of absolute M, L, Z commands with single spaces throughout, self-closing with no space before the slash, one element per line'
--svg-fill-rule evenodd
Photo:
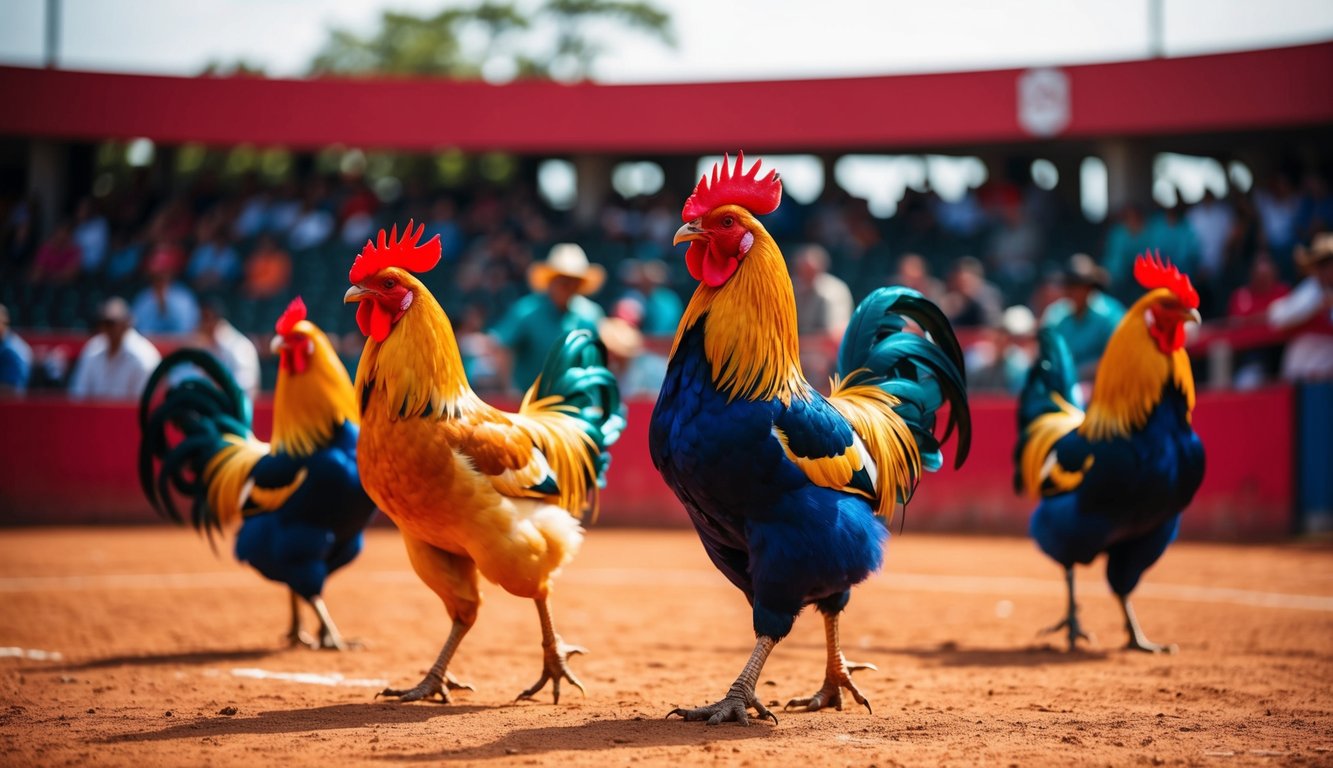
<path fill-rule="evenodd" d="M 244 707 L 244 705 L 243 705 Z M 337 731 L 343 728 L 364 728 L 381 724 L 425 723 L 436 717 L 481 712 L 489 707 L 469 707 L 449 704 L 401 704 L 397 701 L 329 704 L 305 709 L 276 709 L 247 716 L 216 715 L 204 719 L 191 719 L 160 731 L 139 731 L 120 733 L 103 739 L 103 744 L 123 744 L 127 741 L 169 741 L 173 739 L 201 739 L 205 736 L 239 736 L 263 733 L 309 733 L 312 731 Z"/>

